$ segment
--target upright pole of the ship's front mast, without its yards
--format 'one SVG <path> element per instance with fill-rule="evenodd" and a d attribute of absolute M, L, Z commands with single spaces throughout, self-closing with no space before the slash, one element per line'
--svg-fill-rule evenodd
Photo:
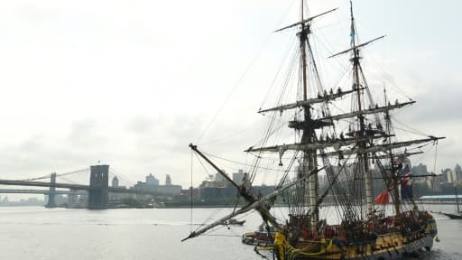
<path fill-rule="evenodd" d="M 301 0 L 301 31 L 299 32 L 300 36 L 300 51 L 301 51 L 301 77 L 302 77 L 302 88 L 303 88 L 303 101 L 308 100 L 308 82 L 307 82 L 307 51 L 306 45 L 308 44 L 308 35 L 310 34 L 310 23 L 303 23 L 304 17 L 304 5 L 303 0 Z M 311 57 L 312 58 L 312 57 Z M 303 107 L 303 119 L 305 122 L 309 122 L 311 119 L 310 115 L 310 105 L 305 105 Z M 310 125 L 305 125 L 302 128 L 301 134 L 301 142 L 304 144 L 311 144 L 313 143 L 313 137 L 315 136 L 314 129 L 310 127 Z M 300 176 L 303 178 L 307 176 L 309 172 L 314 169 L 317 169 L 317 157 L 316 157 L 316 150 L 307 149 L 303 151 L 303 164 L 301 171 L 303 175 Z M 310 203 L 310 222 L 311 227 L 313 229 L 316 228 L 316 225 L 319 220 L 319 210 L 317 206 L 318 201 L 318 174 L 310 175 L 308 179 L 308 196 L 309 196 L 309 203 Z"/>

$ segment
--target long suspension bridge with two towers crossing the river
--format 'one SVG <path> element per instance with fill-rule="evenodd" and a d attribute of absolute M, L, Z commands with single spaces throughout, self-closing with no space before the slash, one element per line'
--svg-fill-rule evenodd
<path fill-rule="evenodd" d="M 70 181 L 67 177 L 69 175 L 77 175 L 81 173 L 88 174 L 89 184 L 79 184 L 75 181 Z M 0 193 L 28 193 L 28 194 L 45 194 L 48 195 L 48 203 L 45 205 L 47 208 L 56 207 L 55 197 L 58 194 L 67 194 L 70 200 L 76 200 L 77 196 L 88 196 L 88 209 L 107 209 L 109 203 L 109 192 L 112 193 L 125 193 L 125 194 L 140 194 L 140 195 L 158 195 L 150 190 L 139 190 L 134 188 L 109 186 L 109 173 L 122 179 L 120 174 L 109 171 L 109 165 L 93 165 L 89 168 L 65 172 L 65 173 L 51 173 L 45 176 L 26 179 L 26 180 L 0 180 L 0 185 L 11 186 L 28 186 L 28 187 L 47 187 L 48 190 L 17 190 L 17 189 L 0 189 Z M 57 178 L 67 182 L 58 182 Z M 50 179 L 50 181 L 42 181 Z M 130 181 L 125 182 L 130 183 Z M 56 190 L 68 189 L 68 190 Z"/>

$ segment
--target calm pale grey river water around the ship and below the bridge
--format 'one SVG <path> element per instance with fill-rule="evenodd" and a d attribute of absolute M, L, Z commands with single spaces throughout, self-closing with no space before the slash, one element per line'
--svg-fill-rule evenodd
<path fill-rule="evenodd" d="M 427 209 L 454 212 L 455 206 L 430 205 Z M 239 218 L 246 220 L 243 227 L 222 227 L 208 236 L 180 242 L 200 223 L 231 210 L 0 207 L 0 259 L 262 259 L 253 246 L 240 240 L 260 224 L 257 214 Z M 273 210 L 278 215 L 285 209 Z M 462 259 L 462 220 L 434 217 L 441 242 L 420 259 Z"/>

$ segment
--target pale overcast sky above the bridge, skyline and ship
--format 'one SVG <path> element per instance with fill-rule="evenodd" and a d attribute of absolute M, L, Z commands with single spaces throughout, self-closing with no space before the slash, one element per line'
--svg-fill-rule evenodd
<path fill-rule="evenodd" d="M 330 54 L 346 49 L 348 1 L 309 4 L 311 14 L 340 7 L 314 25 L 315 41 L 328 42 Z M 256 111 L 293 40 L 293 31 L 273 31 L 296 22 L 299 5 L 0 2 L 1 178 L 69 172 L 100 161 L 130 181 L 152 173 L 164 183 L 171 174 L 186 188 L 189 143 L 245 160 L 241 151 L 263 131 L 264 117 Z M 392 78 L 372 81 L 380 85 L 377 93 L 386 85 L 391 95 L 417 100 L 399 120 L 448 137 L 438 146 L 438 172 L 462 163 L 461 7 L 458 0 L 355 1 L 361 40 L 387 35 L 365 52 L 371 53 L 366 65 Z M 374 68 L 365 70 L 374 74 Z M 325 76 L 328 88 L 336 87 L 334 78 Z M 214 140 L 220 142 L 205 144 Z M 432 151 L 412 163 L 432 170 Z M 194 173 L 195 186 L 207 176 Z"/>

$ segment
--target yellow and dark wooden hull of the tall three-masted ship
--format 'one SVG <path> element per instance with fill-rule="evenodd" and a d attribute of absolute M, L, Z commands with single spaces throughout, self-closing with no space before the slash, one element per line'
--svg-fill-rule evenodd
<path fill-rule="evenodd" d="M 430 214 L 429 214 L 430 215 Z M 372 239 L 347 242 L 344 237 L 318 238 L 287 242 L 277 234 L 274 244 L 279 260 L 356 260 L 356 259 L 401 259 L 416 255 L 420 250 L 430 251 L 437 237 L 436 222 L 431 215 L 422 219 L 420 229 L 414 232 L 390 232 L 374 235 Z"/>

